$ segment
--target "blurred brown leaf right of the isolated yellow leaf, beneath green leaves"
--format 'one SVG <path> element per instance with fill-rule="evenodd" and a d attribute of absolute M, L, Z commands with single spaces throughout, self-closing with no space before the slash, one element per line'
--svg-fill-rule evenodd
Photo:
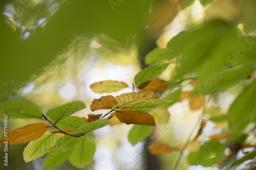
<path fill-rule="evenodd" d="M 158 92 L 163 92 L 168 85 L 168 82 L 165 80 L 156 78 L 156 79 L 150 79 L 147 82 L 138 84 L 137 88 L 141 90 L 151 90 L 151 91 L 158 91 Z"/>

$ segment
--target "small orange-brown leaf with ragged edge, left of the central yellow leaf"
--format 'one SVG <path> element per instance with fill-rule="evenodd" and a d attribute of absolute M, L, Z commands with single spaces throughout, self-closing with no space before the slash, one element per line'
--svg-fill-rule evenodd
<path fill-rule="evenodd" d="M 114 96 L 113 95 L 105 95 L 101 96 L 99 99 L 94 99 L 91 104 L 91 110 L 100 110 L 100 109 L 111 109 L 115 106 Z"/>

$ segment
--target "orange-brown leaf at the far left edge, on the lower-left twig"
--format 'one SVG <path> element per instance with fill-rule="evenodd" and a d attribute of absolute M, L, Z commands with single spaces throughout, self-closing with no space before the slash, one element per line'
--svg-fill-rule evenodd
<path fill-rule="evenodd" d="M 22 128 L 13 129 L 8 133 L 8 144 L 27 143 L 35 140 L 41 137 L 48 128 L 49 126 L 44 123 L 36 123 Z M 4 144 L 4 138 L 0 141 L 0 144 Z"/>

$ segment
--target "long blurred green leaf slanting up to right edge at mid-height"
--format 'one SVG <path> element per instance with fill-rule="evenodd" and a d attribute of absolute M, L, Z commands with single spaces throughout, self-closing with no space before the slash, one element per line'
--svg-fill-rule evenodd
<path fill-rule="evenodd" d="M 195 92 L 206 94 L 216 90 L 224 91 L 247 78 L 254 70 L 254 64 L 254 62 L 247 62 L 230 70 L 216 71 L 212 77 L 204 79 L 201 85 L 195 89 Z"/>

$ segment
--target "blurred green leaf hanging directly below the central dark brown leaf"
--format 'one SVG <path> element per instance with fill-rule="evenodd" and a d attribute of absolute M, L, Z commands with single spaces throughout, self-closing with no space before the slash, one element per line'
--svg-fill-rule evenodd
<path fill-rule="evenodd" d="M 145 138 L 150 135 L 151 131 L 152 126 L 134 125 L 129 132 L 128 139 L 132 145 L 135 145 L 136 143 L 145 140 Z"/>

